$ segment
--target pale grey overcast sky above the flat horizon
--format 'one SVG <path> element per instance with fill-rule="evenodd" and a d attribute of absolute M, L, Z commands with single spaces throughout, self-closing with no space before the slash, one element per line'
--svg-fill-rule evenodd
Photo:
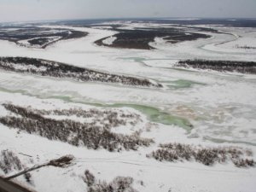
<path fill-rule="evenodd" d="M 124 17 L 256 18 L 256 0 L 0 0 L 0 21 Z"/>

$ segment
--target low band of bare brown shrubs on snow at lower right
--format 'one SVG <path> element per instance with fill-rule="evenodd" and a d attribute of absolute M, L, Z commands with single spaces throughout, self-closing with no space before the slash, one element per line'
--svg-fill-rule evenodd
<path fill-rule="evenodd" d="M 196 160 L 206 166 L 211 166 L 216 162 L 223 163 L 227 160 L 231 160 L 238 167 L 255 165 L 254 160 L 244 159 L 244 156 L 252 156 L 252 152 L 236 147 L 203 148 L 181 143 L 160 144 L 159 149 L 147 154 L 148 158 L 153 157 L 155 160 L 171 162 Z"/>

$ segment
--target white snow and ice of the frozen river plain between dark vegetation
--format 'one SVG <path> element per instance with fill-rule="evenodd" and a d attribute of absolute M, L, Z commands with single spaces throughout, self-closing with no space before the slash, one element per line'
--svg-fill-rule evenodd
<path fill-rule="evenodd" d="M 143 24 L 125 25 L 131 29 Z M 156 24 L 152 26 L 157 27 Z M 134 127 L 114 128 L 114 131 L 130 134 L 141 130 L 143 137 L 153 138 L 155 143 L 148 148 L 138 148 L 137 151 L 108 152 L 49 141 L 0 124 L 0 150 L 14 151 L 27 166 L 66 154 L 75 157 L 73 165 L 68 168 L 44 167 L 32 172 L 32 183 L 26 183 L 24 177 L 15 178 L 15 182 L 38 192 L 85 192 L 87 186 L 82 176 L 88 169 L 98 179 L 108 182 L 117 176 L 133 177 L 134 188 L 138 191 L 255 191 L 254 167 L 238 168 L 231 162 L 213 166 L 194 161 L 159 162 L 146 157 L 160 143 L 189 143 L 250 148 L 255 158 L 256 77 L 173 67 L 178 60 L 195 58 L 256 61 L 255 49 L 237 49 L 236 46 L 256 46 L 255 28 L 216 26 L 216 29 L 225 33 L 205 32 L 212 38 L 179 44 L 166 44 L 157 38 L 150 43 L 157 48 L 154 50 L 98 47 L 94 44 L 96 40 L 111 37 L 116 32 L 106 28 L 69 28 L 89 32 L 89 35 L 61 41 L 46 49 L 20 47 L 1 40 L 0 56 L 35 57 L 109 73 L 144 77 L 164 84 L 164 88 L 80 83 L 0 70 L 0 104 L 12 102 L 38 109 L 118 107 L 139 114 L 143 121 Z M 113 40 L 108 39 L 106 43 L 111 44 Z M 186 119 L 193 128 L 188 131 L 173 120 L 155 121 L 148 115 L 149 107 L 172 117 Z M 0 106 L 0 116 L 8 113 Z M 15 171 L 9 174 L 13 173 Z"/>

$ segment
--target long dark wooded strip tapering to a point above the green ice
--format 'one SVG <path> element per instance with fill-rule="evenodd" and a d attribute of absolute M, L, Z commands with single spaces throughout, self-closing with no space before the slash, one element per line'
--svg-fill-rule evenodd
<path fill-rule="evenodd" d="M 40 76 L 66 78 L 83 82 L 90 81 L 127 84 L 133 86 L 162 87 L 162 84 L 153 83 L 148 79 L 138 79 L 124 75 L 102 73 L 87 68 L 67 65 L 65 63 L 26 57 L 0 57 L 0 68 L 17 73 L 32 73 Z"/>

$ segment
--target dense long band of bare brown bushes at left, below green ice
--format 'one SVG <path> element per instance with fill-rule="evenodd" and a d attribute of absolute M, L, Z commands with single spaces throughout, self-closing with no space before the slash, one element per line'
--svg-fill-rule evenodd
<path fill-rule="evenodd" d="M 11 104 L 5 104 L 4 107 L 21 117 L 1 117 L 0 123 L 30 134 L 38 134 L 50 140 L 59 140 L 93 149 L 105 148 L 108 151 L 137 150 L 140 146 L 148 147 L 154 143 L 152 139 L 140 137 L 139 132 L 132 135 L 118 134 L 112 132 L 108 126 L 96 125 L 96 122 L 80 123 L 71 119 L 50 119 L 33 112 L 32 108 L 22 108 Z"/>

